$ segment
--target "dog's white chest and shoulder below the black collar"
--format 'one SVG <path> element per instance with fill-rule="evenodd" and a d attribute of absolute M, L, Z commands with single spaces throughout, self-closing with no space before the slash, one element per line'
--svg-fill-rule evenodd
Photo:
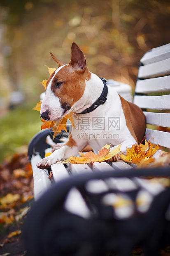
<path fill-rule="evenodd" d="M 85 140 L 94 150 L 103 145 L 118 145 L 124 136 L 130 136 L 126 119 L 117 92 L 108 88 L 109 93 L 105 104 L 88 114 L 74 115 L 75 128 L 72 134 L 78 140 Z"/>

